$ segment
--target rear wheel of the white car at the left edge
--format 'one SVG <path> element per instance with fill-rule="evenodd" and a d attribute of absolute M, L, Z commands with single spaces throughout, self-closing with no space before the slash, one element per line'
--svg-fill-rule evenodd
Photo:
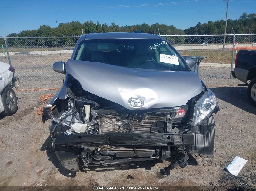
<path fill-rule="evenodd" d="M 4 111 L 1 113 L 2 115 L 12 115 L 16 113 L 18 110 L 17 97 L 15 92 L 10 86 L 7 86 L 3 91 L 2 95 L 2 103 L 4 106 Z"/>

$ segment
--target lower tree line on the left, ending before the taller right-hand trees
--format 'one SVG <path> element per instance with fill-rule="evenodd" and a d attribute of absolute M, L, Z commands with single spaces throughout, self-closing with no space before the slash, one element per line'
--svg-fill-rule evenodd
<path fill-rule="evenodd" d="M 152 25 L 143 23 L 141 25 L 126 25 L 119 26 L 112 22 L 111 25 L 100 24 L 99 21 L 97 23 L 93 21 L 85 21 L 81 23 L 79 21 L 71 21 L 69 23 L 60 23 L 57 27 L 50 27 L 46 25 L 41 25 L 38 29 L 35 30 L 23 30 L 20 33 L 12 33 L 9 34 L 8 37 L 20 37 L 20 36 L 81 36 L 82 30 L 83 34 L 91 33 L 94 31 L 95 33 L 106 33 L 106 32 L 133 32 L 136 30 L 140 30 L 143 33 L 151 33 L 158 34 L 158 29 L 161 33 L 165 34 L 185 34 L 183 30 L 177 29 L 173 25 L 159 24 L 155 23 Z"/>

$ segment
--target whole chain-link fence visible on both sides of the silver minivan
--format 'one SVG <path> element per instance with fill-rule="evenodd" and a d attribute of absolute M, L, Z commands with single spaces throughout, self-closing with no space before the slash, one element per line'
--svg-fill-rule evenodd
<path fill-rule="evenodd" d="M 201 61 L 201 78 L 230 78 L 231 62 L 240 49 L 256 50 L 256 34 L 163 35 L 183 56 L 207 56 Z M 56 61 L 67 61 L 79 37 L 0 37 L 0 61 L 8 63 L 6 45 L 16 76 L 21 81 L 61 81 L 52 70 Z M 6 42 L 6 45 L 5 45 Z M 233 46 L 235 49 L 233 50 Z M 232 54 L 234 57 L 232 59 Z"/>

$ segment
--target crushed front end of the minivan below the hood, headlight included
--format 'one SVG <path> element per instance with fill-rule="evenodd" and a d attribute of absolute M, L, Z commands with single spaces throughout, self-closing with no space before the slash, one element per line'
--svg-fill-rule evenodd
<path fill-rule="evenodd" d="M 203 83 L 203 90 L 184 105 L 127 109 L 85 91 L 76 78 L 66 75 L 42 116 L 43 122 L 51 119 L 55 153 L 66 169 L 164 161 L 177 153 L 213 155 L 212 113 L 218 104 Z"/>

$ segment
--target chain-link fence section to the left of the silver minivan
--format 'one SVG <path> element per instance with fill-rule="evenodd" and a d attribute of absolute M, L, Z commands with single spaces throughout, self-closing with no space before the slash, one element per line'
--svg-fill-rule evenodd
<path fill-rule="evenodd" d="M 20 81 L 58 81 L 62 74 L 54 72 L 56 61 L 67 61 L 79 37 L 6 37 L 15 75 Z M 0 45 L 5 46 L 4 38 Z M 6 47 L 0 50 L 0 61 L 8 63 Z M 5 56 L 4 56 L 5 54 Z"/>

